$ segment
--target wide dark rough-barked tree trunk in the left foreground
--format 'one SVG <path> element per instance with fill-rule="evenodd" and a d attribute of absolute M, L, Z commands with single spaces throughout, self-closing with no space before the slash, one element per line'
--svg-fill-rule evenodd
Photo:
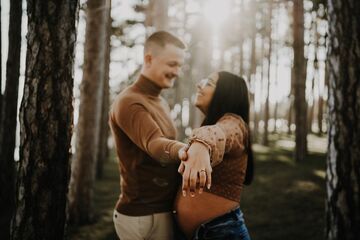
<path fill-rule="evenodd" d="M 64 239 L 77 1 L 27 2 L 20 167 L 12 239 Z"/>

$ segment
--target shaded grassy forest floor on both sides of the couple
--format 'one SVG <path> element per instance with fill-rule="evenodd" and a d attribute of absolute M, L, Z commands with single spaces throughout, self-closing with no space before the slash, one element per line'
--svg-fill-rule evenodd
<path fill-rule="evenodd" d="M 279 140 L 280 139 L 280 140 Z M 270 146 L 254 144 L 255 180 L 242 193 L 241 209 L 252 240 L 320 240 L 325 224 L 327 140 L 308 136 L 306 161 L 293 160 L 294 141 L 271 135 Z M 112 223 L 119 195 L 115 157 L 95 183 L 96 222 L 72 229 L 71 240 L 117 239 Z"/>

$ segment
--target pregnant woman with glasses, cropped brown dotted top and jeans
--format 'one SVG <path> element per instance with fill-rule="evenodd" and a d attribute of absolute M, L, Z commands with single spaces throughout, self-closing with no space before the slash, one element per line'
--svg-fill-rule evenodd
<path fill-rule="evenodd" d="M 209 149 L 212 185 L 196 197 L 179 192 L 175 201 L 178 225 L 187 239 L 248 240 L 239 208 L 243 184 L 253 178 L 246 83 L 229 72 L 213 73 L 198 84 L 195 105 L 205 120 L 193 131 L 189 145 L 201 143 Z M 179 172 L 184 169 L 186 162 Z"/>

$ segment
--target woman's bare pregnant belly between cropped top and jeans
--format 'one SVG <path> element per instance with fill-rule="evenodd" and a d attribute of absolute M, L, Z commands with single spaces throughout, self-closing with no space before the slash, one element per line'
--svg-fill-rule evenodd
<path fill-rule="evenodd" d="M 184 197 L 179 191 L 175 201 L 178 224 L 188 238 L 201 223 L 221 216 L 238 206 L 238 202 L 208 192 L 196 194 L 195 197 L 189 195 Z"/>

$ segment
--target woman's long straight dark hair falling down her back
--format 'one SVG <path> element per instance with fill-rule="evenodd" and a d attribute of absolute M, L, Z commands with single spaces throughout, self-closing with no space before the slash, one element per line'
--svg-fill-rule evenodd
<path fill-rule="evenodd" d="M 250 185 L 254 177 L 254 158 L 251 147 L 249 128 L 249 93 L 245 80 L 235 74 L 221 71 L 216 83 L 215 92 L 210 102 L 208 113 L 202 125 L 215 124 L 225 113 L 239 115 L 248 127 L 248 141 L 246 150 L 248 163 L 244 184 Z"/>

